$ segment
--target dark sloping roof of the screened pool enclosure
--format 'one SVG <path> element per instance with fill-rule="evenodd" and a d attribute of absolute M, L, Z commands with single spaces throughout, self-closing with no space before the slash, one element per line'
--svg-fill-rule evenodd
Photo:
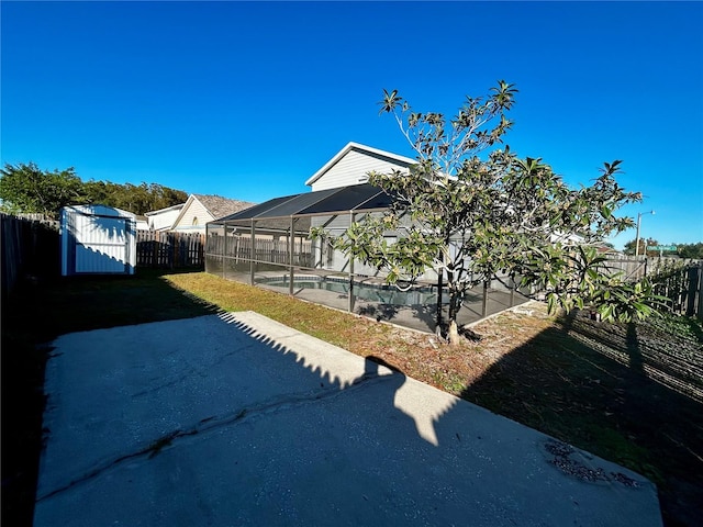
<path fill-rule="evenodd" d="M 381 210 L 392 202 L 383 189 L 362 183 L 275 198 L 211 223 Z"/>

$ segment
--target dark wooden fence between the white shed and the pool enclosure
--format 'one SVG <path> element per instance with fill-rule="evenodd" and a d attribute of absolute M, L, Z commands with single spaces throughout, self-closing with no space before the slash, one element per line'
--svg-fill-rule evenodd
<path fill-rule="evenodd" d="M 205 235 L 178 232 L 136 232 L 136 267 L 204 268 Z"/>

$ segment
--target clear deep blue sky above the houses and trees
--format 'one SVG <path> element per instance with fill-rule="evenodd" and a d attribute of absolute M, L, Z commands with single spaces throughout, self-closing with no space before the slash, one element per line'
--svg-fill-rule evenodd
<path fill-rule="evenodd" d="M 1 162 L 261 202 L 349 141 L 414 157 L 382 90 L 454 115 L 504 79 L 506 143 L 572 184 L 603 161 L 641 235 L 703 242 L 703 3 L 11 2 Z M 635 231 L 614 238 L 616 247 Z"/>

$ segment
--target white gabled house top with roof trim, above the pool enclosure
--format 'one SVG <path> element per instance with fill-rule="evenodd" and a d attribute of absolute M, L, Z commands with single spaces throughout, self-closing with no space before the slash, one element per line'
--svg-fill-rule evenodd
<path fill-rule="evenodd" d="M 389 173 L 392 170 L 408 171 L 408 168 L 416 162 L 415 159 L 410 157 L 399 156 L 398 154 L 379 150 L 358 143 L 348 143 L 308 179 L 305 184 L 310 186 L 314 192 L 366 183 L 370 171 L 383 173 Z"/>

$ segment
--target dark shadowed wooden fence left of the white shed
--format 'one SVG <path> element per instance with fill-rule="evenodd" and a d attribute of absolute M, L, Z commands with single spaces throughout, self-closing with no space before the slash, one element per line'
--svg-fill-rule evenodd
<path fill-rule="evenodd" d="M 0 213 L 0 236 L 3 301 L 21 278 L 38 280 L 59 274 L 58 222 L 41 215 L 21 217 Z"/>

